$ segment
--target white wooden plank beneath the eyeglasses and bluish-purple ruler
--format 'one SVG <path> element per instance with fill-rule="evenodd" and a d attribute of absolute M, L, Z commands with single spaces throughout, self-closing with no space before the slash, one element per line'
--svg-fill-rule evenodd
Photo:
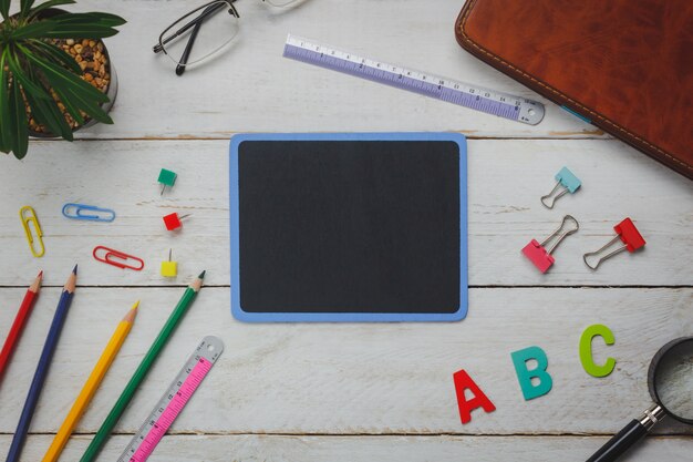
<path fill-rule="evenodd" d="M 227 137 L 240 131 L 462 130 L 475 136 L 603 136 L 554 104 L 537 126 L 505 121 L 281 57 L 288 33 L 306 35 L 394 64 L 546 102 L 463 51 L 454 38 L 459 0 L 306 0 L 276 9 L 241 1 L 240 32 L 220 57 L 184 76 L 152 47 L 187 0 L 115 0 L 128 23 L 107 39 L 120 91 L 115 125 L 82 137 Z M 85 0 L 75 10 L 103 9 Z"/>

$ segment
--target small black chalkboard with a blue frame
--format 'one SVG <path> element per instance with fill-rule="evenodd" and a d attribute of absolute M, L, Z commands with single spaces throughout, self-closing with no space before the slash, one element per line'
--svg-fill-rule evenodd
<path fill-rule="evenodd" d="M 234 316 L 464 318 L 465 146 L 443 133 L 234 136 Z"/>

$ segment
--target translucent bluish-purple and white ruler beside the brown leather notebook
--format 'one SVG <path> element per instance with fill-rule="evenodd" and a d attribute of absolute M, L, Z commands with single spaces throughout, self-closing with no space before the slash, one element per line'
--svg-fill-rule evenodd
<path fill-rule="evenodd" d="M 359 57 L 292 34 L 283 55 L 530 125 L 544 119 L 544 104 L 537 101 Z"/>

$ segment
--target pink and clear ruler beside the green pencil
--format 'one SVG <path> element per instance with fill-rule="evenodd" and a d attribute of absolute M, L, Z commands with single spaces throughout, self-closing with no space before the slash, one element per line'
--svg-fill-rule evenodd
<path fill-rule="evenodd" d="M 217 337 L 203 339 L 117 462 L 144 462 L 152 455 L 221 351 L 224 343 Z"/>

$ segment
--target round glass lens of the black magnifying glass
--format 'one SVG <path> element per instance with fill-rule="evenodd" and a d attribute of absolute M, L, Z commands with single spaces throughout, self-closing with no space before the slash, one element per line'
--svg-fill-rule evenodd
<path fill-rule="evenodd" d="M 693 340 L 675 345 L 662 356 L 654 387 L 660 403 L 670 414 L 693 421 Z"/>

